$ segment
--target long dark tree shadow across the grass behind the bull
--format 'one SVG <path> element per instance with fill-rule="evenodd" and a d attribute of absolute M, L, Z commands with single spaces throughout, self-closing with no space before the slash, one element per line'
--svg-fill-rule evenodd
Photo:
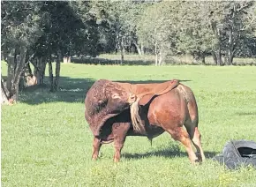
<path fill-rule="evenodd" d="M 48 77 L 45 78 L 45 82 L 48 82 Z M 169 79 L 167 79 L 169 80 Z M 122 80 L 120 82 L 129 82 L 132 84 L 146 84 L 146 83 L 162 83 L 167 80 L 141 80 L 130 81 Z M 49 92 L 49 84 L 42 86 L 29 86 L 19 92 L 19 101 L 36 105 L 40 103 L 49 102 L 81 102 L 83 103 L 87 94 L 87 91 L 94 84 L 95 79 L 72 79 L 69 77 L 60 78 L 59 90 L 55 93 Z M 119 80 L 114 80 L 119 81 Z M 186 82 L 191 80 L 181 80 Z"/>

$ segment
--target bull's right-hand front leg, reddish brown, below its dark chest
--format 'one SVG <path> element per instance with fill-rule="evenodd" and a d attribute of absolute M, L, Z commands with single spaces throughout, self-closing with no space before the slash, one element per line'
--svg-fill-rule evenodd
<path fill-rule="evenodd" d="M 126 138 L 126 134 L 130 129 L 130 123 L 114 123 L 112 126 L 112 131 L 114 134 L 114 146 L 115 146 L 115 154 L 114 161 L 120 161 L 121 150 L 124 146 L 124 141 Z"/>

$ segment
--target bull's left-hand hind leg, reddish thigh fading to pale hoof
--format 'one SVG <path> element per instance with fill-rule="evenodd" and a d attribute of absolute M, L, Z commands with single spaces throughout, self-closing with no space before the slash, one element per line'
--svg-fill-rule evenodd
<path fill-rule="evenodd" d="M 175 129 L 171 129 L 171 130 L 169 129 L 166 131 L 169 132 L 172 138 L 174 138 L 175 140 L 183 144 L 183 146 L 186 149 L 186 152 L 188 153 L 189 160 L 192 163 L 195 163 L 196 161 L 198 161 L 196 154 L 192 150 L 192 143 L 187 131 L 185 131 L 182 127 L 176 127 Z"/>

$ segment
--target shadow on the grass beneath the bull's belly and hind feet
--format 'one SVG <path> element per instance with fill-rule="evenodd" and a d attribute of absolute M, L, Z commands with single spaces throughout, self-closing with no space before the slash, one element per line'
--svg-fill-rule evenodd
<path fill-rule="evenodd" d="M 204 152 L 207 159 L 213 158 L 217 153 L 215 152 Z M 150 151 L 147 153 L 123 153 L 122 157 L 126 159 L 142 159 L 148 157 L 165 157 L 165 158 L 173 158 L 173 157 L 188 157 L 186 152 L 180 150 L 177 145 L 170 145 L 160 150 Z"/>

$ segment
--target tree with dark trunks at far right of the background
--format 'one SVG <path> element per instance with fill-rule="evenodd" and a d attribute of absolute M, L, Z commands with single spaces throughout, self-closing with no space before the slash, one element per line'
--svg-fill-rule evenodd
<path fill-rule="evenodd" d="M 245 35 L 255 28 L 255 3 L 252 1 L 207 2 L 209 19 L 215 34 L 213 56 L 216 64 L 232 64 L 237 49 L 243 48 Z M 245 44 L 245 43 L 244 43 Z"/>

